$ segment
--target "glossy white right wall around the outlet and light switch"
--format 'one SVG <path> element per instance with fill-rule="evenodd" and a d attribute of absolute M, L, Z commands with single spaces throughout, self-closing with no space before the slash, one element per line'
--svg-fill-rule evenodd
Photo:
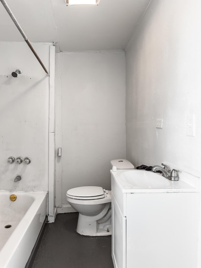
<path fill-rule="evenodd" d="M 164 161 L 200 176 L 200 10 L 199 0 L 152 0 L 127 45 L 126 148 L 135 166 Z M 194 137 L 188 114 L 195 114 Z"/>

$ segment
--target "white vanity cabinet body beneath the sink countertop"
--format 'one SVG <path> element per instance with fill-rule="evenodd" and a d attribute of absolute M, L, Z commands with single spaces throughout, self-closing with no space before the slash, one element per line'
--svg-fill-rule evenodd
<path fill-rule="evenodd" d="M 199 192 L 111 190 L 115 268 L 198 268 Z"/>

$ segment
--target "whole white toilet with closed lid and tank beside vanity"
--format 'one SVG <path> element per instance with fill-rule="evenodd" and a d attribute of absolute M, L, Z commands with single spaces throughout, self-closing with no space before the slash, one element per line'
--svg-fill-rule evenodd
<path fill-rule="evenodd" d="M 135 169 L 126 159 L 111 160 L 117 169 Z M 87 236 L 111 235 L 111 191 L 83 186 L 67 191 L 68 203 L 79 212 L 77 232 Z"/>

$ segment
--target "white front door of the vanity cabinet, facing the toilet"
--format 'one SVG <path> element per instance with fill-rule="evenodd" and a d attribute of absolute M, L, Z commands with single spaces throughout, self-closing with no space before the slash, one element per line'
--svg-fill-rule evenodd
<path fill-rule="evenodd" d="M 115 268 L 126 268 L 126 217 L 123 217 L 114 195 L 112 204 L 112 260 Z"/>

